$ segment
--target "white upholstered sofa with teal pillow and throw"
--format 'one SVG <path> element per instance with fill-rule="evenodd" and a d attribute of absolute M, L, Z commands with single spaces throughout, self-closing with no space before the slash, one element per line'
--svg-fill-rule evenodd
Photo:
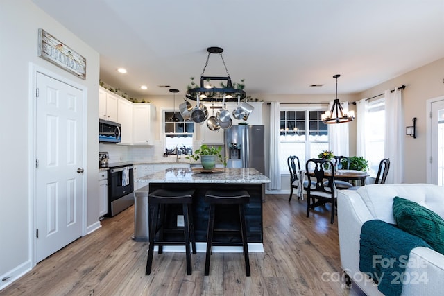
<path fill-rule="evenodd" d="M 418 202 L 444 218 L 444 187 L 432 184 L 373 184 L 357 191 L 338 193 L 338 228 L 343 271 L 366 295 L 383 295 L 374 282 L 359 271 L 359 238 L 367 220 L 395 224 L 393 198 L 399 196 Z M 420 263 L 420 264 L 414 264 Z M 418 269 L 420 265 L 420 269 Z M 405 270 L 410 281 L 402 286 L 402 295 L 444 295 L 444 255 L 427 247 L 415 247 Z M 416 280 L 416 275 L 422 278 Z M 404 279 L 408 279 L 404 277 Z M 426 283 L 427 281 L 427 283 Z"/>

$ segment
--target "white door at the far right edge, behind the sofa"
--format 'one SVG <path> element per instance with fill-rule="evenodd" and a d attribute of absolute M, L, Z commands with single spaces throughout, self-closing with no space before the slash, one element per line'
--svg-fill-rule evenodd
<path fill-rule="evenodd" d="M 444 100 L 431 106 L 432 184 L 444 185 Z"/>

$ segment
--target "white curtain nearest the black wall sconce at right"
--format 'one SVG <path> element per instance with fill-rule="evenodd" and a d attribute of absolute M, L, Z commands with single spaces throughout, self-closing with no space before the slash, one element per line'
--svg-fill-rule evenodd
<path fill-rule="evenodd" d="M 386 90 L 386 128 L 384 155 L 390 159 L 390 169 L 386 183 L 402 183 L 404 181 L 404 116 L 402 110 L 402 92 L 395 88 L 394 92 Z"/>

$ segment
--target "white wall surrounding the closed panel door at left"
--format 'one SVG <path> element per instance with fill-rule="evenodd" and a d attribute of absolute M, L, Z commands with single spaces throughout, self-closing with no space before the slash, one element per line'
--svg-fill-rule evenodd
<path fill-rule="evenodd" d="M 37 32 L 43 28 L 64 42 L 87 60 L 87 79 L 71 73 L 37 56 Z M 96 223 L 98 216 L 97 143 L 99 110 L 99 54 L 78 37 L 60 26 L 31 1 L 0 1 L 0 122 L 2 155 L 0 170 L 0 288 L 6 286 L 31 268 L 31 199 L 30 171 L 33 159 L 29 151 L 33 143 L 28 141 L 32 123 L 30 114 L 30 64 L 43 67 L 57 75 L 84 85 L 87 88 L 87 198 L 96 207 L 89 211 L 87 225 Z M 94 208 L 92 207 L 92 208 Z"/>

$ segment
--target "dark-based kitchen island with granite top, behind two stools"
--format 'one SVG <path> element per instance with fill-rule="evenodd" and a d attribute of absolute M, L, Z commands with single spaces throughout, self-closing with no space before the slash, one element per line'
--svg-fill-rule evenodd
<path fill-rule="evenodd" d="M 245 189 L 250 195 L 250 202 L 246 204 L 245 207 L 248 249 L 250 252 L 264 252 L 262 245 L 262 202 L 264 201 L 265 184 L 270 182 L 270 179 L 262 173 L 259 173 L 255 168 L 214 168 L 211 172 L 205 171 L 202 168 L 167 168 L 164 171 L 141 177 L 137 179 L 136 182 L 142 182 L 147 185 L 142 187 L 142 189 L 139 189 L 139 198 L 142 195 L 146 195 L 147 197 L 148 193 L 151 193 L 156 189 L 195 190 L 192 209 L 198 252 L 205 252 L 205 242 L 207 239 L 209 205 L 203 200 L 207 190 Z M 173 207 L 173 205 L 169 207 L 169 228 L 174 228 L 178 224 L 180 225 L 180 209 L 180 207 Z M 237 207 L 233 207 L 232 204 L 221 205 L 217 209 L 215 223 L 219 223 L 217 216 L 224 216 L 224 220 L 230 220 L 230 223 L 223 223 L 223 228 L 237 228 L 239 225 L 237 211 Z M 136 227 L 140 220 L 144 220 L 142 217 L 137 217 L 137 215 L 141 215 L 137 212 L 142 211 L 137 211 L 137 209 L 135 211 Z M 152 209 L 149 210 L 149 213 L 152 213 Z M 233 219 L 226 219 L 226 216 L 233 216 Z M 218 236 L 218 239 L 221 241 L 234 241 L 237 240 L 237 237 L 232 237 L 231 234 L 222 233 Z M 227 250 L 237 248 L 239 247 L 214 247 L 214 252 L 227 252 Z M 168 250 L 168 248 L 165 247 L 164 250 Z"/>

